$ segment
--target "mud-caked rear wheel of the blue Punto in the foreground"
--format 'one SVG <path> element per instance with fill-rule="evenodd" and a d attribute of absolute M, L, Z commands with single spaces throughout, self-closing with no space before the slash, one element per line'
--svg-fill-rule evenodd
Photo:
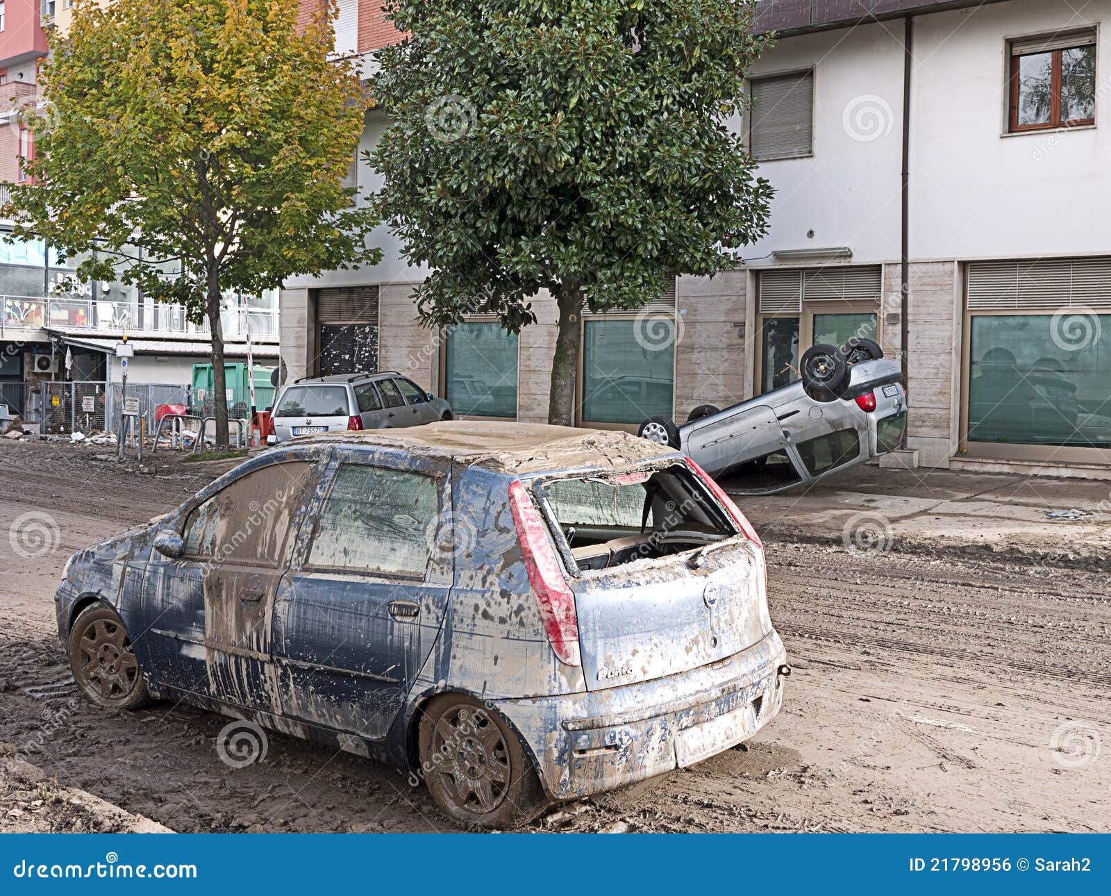
<path fill-rule="evenodd" d="M 437 697 L 423 710 L 418 740 L 432 800 L 461 825 L 508 830 L 548 805 L 520 738 L 478 700 Z"/>

